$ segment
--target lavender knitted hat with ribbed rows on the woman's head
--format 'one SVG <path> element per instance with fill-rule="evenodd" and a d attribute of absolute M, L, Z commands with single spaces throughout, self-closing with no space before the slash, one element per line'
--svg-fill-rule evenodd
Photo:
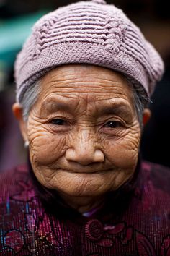
<path fill-rule="evenodd" d="M 35 23 L 14 66 L 17 101 L 50 69 L 71 63 L 122 72 L 148 96 L 164 71 L 161 57 L 122 10 L 104 0 L 79 1 Z"/>

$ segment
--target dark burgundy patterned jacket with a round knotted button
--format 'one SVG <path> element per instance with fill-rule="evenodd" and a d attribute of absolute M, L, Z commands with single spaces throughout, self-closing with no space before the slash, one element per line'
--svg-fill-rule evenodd
<path fill-rule="evenodd" d="M 71 216 L 69 209 L 59 217 L 59 206 L 53 204 L 52 213 L 43 205 L 27 166 L 4 172 L 0 255 L 169 256 L 169 177 L 168 168 L 143 162 L 135 187 L 118 200 L 109 197 L 107 206 L 88 217 Z"/>

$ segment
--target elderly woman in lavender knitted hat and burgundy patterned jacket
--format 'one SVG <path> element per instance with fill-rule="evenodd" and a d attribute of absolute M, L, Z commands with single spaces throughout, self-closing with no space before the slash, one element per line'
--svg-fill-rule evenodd
<path fill-rule="evenodd" d="M 170 255 L 170 172 L 139 153 L 163 69 L 104 1 L 35 24 L 15 63 L 29 161 L 1 174 L 1 255 Z"/>

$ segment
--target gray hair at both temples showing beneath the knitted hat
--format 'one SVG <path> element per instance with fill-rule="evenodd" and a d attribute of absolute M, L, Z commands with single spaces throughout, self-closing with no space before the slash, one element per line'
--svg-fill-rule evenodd
<path fill-rule="evenodd" d="M 125 77 L 125 80 L 128 82 L 128 85 L 133 94 L 133 101 L 135 106 L 135 113 L 138 116 L 138 121 L 140 127 L 143 127 L 143 110 L 148 107 L 149 98 L 146 96 L 146 92 L 143 90 L 143 87 L 140 85 L 132 85 L 130 80 Z M 38 95 L 40 94 L 40 83 L 41 80 L 37 80 L 35 84 L 30 86 L 26 93 L 24 93 L 24 97 L 22 98 L 22 102 L 20 103 L 23 109 L 23 119 L 27 121 L 28 116 L 30 114 L 30 110 L 32 106 L 37 101 Z"/>

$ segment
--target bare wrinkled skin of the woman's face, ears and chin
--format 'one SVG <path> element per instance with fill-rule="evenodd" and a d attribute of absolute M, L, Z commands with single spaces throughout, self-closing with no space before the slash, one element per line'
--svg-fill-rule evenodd
<path fill-rule="evenodd" d="M 133 176 L 141 131 L 132 93 L 121 74 L 80 64 L 53 69 L 41 87 L 27 123 L 18 103 L 14 115 L 38 181 L 82 213 Z"/>

